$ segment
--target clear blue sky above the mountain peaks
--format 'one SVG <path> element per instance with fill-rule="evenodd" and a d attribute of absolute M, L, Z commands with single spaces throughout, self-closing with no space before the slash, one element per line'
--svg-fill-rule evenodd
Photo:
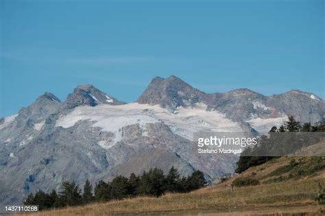
<path fill-rule="evenodd" d="M 0 116 L 92 83 L 132 102 L 156 76 L 204 92 L 324 98 L 324 1 L 0 0 Z"/>

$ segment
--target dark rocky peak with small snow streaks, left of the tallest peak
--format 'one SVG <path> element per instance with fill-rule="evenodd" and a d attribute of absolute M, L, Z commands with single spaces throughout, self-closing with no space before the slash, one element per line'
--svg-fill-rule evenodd
<path fill-rule="evenodd" d="M 64 107 L 74 108 L 80 105 L 95 107 L 99 104 L 122 105 L 123 102 L 108 96 L 93 85 L 78 85 L 64 102 Z"/>

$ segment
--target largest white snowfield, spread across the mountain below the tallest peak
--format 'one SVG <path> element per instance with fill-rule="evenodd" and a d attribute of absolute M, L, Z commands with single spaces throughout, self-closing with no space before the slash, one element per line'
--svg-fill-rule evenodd
<path fill-rule="evenodd" d="M 193 133 L 198 131 L 243 131 L 237 122 L 232 122 L 218 111 L 206 111 L 206 105 L 197 104 L 194 107 L 179 107 L 174 113 L 159 105 L 143 105 L 129 103 L 125 105 L 97 105 L 95 107 L 76 107 L 67 116 L 62 116 L 56 126 L 69 128 L 79 121 L 94 122 L 92 126 L 102 131 L 115 134 L 115 143 L 121 140 L 121 130 L 124 126 L 139 124 L 144 129 L 145 124 L 163 122 L 173 133 L 193 140 Z M 99 146 L 110 148 L 104 141 Z"/>

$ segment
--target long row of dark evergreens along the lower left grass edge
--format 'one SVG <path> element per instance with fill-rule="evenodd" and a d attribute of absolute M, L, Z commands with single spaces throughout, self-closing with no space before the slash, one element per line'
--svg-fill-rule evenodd
<path fill-rule="evenodd" d="M 83 191 L 74 182 L 65 181 L 58 193 L 56 190 L 50 193 L 40 190 L 35 195 L 30 193 L 23 204 L 38 205 L 39 209 L 43 210 L 136 196 L 159 197 L 164 193 L 186 193 L 200 189 L 204 185 L 206 185 L 206 180 L 200 171 L 195 171 L 191 176 L 185 177 L 180 176 L 175 167 L 171 167 L 167 175 L 163 173 L 163 170 L 154 168 L 139 176 L 133 173 L 129 178 L 116 176 L 108 183 L 100 180 L 94 189 L 89 180 L 86 180 Z"/>

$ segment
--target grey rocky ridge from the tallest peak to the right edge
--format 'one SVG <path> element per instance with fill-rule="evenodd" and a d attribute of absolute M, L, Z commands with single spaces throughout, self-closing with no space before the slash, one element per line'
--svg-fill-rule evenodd
<path fill-rule="evenodd" d="M 160 105 L 174 111 L 177 107 L 190 107 L 205 103 L 208 110 L 225 113 L 236 122 L 252 118 L 278 118 L 293 116 L 301 122 L 322 122 L 325 102 L 309 92 L 291 90 L 285 94 L 264 96 L 248 89 L 225 93 L 206 94 L 181 79 L 171 76 L 156 77 L 137 100 L 141 104 Z"/>

